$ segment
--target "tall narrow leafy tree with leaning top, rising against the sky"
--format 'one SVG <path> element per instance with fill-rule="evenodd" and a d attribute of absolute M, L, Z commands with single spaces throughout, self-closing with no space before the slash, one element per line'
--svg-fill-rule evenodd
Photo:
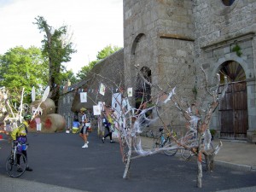
<path fill-rule="evenodd" d="M 49 88 L 51 91 L 51 99 L 58 106 L 60 96 L 60 89 L 58 84 L 61 84 L 61 73 L 65 67 L 61 65 L 62 62 L 71 61 L 71 54 L 75 53 L 73 43 L 67 37 L 67 26 L 61 26 L 54 29 L 47 24 L 47 21 L 42 16 L 35 18 L 37 20 L 34 24 L 38 25 L 40 32 L 45 32 L 44 40 L 42 41 L 42 53 L 48 58 L 49 63 Z"/>

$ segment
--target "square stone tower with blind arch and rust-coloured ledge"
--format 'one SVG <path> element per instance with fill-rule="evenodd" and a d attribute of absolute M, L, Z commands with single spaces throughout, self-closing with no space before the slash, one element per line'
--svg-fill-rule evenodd
<path fill-rule="evenodd" d="M 132 79 L 125 83 L 137 84 L 135 66 L 139 65 L 139 70 L 148 67 L 152 84 L 166 91 L 176 86 L 177 93 L 193 99 L 195 26 L 191 1 L 124 1 L 124 26 L 125 72 L 130 75 L 127 79 Z M 152 88 L 152 97 L 159 93 Z M 184 121 L 177 108 L 162 109 L 166 124 L 180 126 Z"/>

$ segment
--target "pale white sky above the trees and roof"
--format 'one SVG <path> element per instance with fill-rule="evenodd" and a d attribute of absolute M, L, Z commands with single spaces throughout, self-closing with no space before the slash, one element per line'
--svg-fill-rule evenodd
<path fill-rule="evenodd" d="M 73 33 L 73 73 L 108 45 L 124 47 L 123 0 L 0 0 L 0 55 L 16 46 L 42 46 L 44 33 L 33 24 L 43 16 L 49 26 L 68 26 Z"/>

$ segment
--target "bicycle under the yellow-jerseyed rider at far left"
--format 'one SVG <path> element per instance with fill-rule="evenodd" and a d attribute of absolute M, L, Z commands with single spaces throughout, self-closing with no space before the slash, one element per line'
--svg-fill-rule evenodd
<path fill-rule="evenodd" d="M 10 177 L 20 177 L 26 171 L 27 160 L 22 154 L 22 149 L 26 148 L 27 144 L 12 144 L 11 154 L 5 162 L 5 170 Z"/>

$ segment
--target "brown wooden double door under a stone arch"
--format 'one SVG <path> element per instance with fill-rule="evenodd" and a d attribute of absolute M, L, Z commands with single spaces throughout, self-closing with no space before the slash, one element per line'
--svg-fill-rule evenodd
<path fill-rule="evenodd" d="M 219 103 L 220 137 L 245 139 L 248 129 L 247 83 L 241 65 L 236 61 L 226 61 L 220 68 L 221 79 L 229 79 L 229 88 Z M 220 87 L 220 90 L 223 86 Z"/>

